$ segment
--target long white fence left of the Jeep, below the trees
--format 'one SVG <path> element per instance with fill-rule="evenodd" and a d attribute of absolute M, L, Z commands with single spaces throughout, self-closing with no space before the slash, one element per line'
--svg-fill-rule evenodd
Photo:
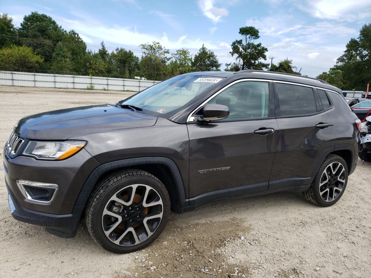
<path fill-rule="evenodd" d="M 112 77 L 96 77 L 81 75 L 58 75 L 33 72 L 0 71 L 0 85 L 75 88 L 86 89 L 93 85 L 94 89 L 141 91 L 160 81 L 124 79 Z"/>

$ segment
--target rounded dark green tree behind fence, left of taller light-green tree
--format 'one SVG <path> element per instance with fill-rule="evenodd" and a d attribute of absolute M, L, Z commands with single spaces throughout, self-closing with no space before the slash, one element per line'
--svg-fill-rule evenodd
<path fill-rule="evenodd" d="M 116 48 L 115 52 L 111 53 L 111 60 L 117 75 L 134 78 L 139 72 L 139 58 L 130 50 Z"/>

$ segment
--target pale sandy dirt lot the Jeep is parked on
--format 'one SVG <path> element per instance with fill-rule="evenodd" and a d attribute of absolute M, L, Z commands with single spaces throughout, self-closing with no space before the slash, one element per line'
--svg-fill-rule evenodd
<path fill-rule="evenodd" d="M 115 103 L 130 94 L 0 86 L 0 143 L 23 116 Z M 0 277 L 371 277 L 368 162 L 358 160 L 346 192 L 332 207 L 319 208 L 295 193 L 212 203 L 171 214 L 154 244 L 125 255 L 100 249 L 83 223 L 75 238 L 63 239 L 14 220 L 3 171 Z"/>

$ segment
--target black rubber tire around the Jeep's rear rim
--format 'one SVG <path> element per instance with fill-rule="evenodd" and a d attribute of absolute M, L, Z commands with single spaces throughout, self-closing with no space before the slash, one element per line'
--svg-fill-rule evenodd
<path fill-rule="evenodd" d="M 328 166 L 330 164 L 334 163 L 334 162 L 335 162 L 334 165 L 337 165 L 336 162 L 341 163 L 343 165 L 344 171 L 345 171 L 345 178 L 344 178 L 345 182 L 344 182 L 344 185 L 342 186 L 341 192 L 338 193 L 338 195 L 334 199 L 331 198 L 331 201 L 324 201 L 324 199 L 321 197 L 321 194 L 320 194 L 320 182 L 324 181 L 324 180 L 321 181 L 321 178 L 322 178 L 322 175 L 325 174 L 324 173 L 325 169 L 327 169 Z M 344 175 L 344 174 L 342 174 L 342 175 Z M 342 178 L 343 178 L 343 176 L 342 176 Z M 322 164 L 321 164 L 321 167 L 319 167 L 315 178 L 313 179 L 311 187 L 309 187 L 309 189 L 307 191 L 304 191 L 303 195 L 304 195 L 305 199 L 307 199 L 309 202 L 311 202 L 311 203 L 313 203 L 317 206 L 331 206 L 334 203 L 336 203 L 337 201 L 339 201 L 339 199 L 341 198 L 341 196 L 343 195 L 343 193 L 345 191 L 345 188 L 347 187 L 347 182 L 348 182 L 347 163 L 345 162 L 345 160 L 342 157 L 340 157 L 338 155 L 331 154 L 331 155 L 326 156 L 324 162 L 322 162 Z M 328 186 L 328 185 L 324 185 L 324 186 Z M 325 189 L 325 190 L 327 190 L 327 189 Z M 331 188 L 328 191 L 328 196 L 330 196 L 330 190 L 331 190 Z M 326 196 L 326 193 L 324 193 L 324 195 Z M 329 199 L 329 197 L 327 199 Z"/>

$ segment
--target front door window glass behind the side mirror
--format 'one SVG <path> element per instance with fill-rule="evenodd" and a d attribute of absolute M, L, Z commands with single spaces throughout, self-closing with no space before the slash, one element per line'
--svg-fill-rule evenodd
<path fill-rule="evenodd" d="M 244 81 L 236 83 L 208 103 L 226 105 L 229 108 L 229 120 L 247 120 L 268 117 L 269 84 L 268 82 Z"/>

